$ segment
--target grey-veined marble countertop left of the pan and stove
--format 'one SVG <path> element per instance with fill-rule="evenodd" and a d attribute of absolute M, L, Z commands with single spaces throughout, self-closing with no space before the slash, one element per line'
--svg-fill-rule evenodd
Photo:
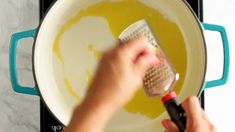
<path fill-rule="evenodd" d="M 0 0 L 0 132 L 39 132 L 39 98 L 13 92 L 9 77 L 9 42 L 14 32 L 38 26 L 38 0 Z M 19 79 L 33 86 L 32 40 L 18 50 Z"/>

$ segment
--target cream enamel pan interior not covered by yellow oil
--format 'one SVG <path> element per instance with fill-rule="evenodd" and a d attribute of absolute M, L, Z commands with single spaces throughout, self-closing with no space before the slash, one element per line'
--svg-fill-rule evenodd
<path fill-rule="evenodd" d="M 61 71 L 63 67 L 59 65 L 59 62 L 58 65 L 54 66 L 56 60 L 53 53 L 53 44 L 63 24 L 73 18 L 78 11 L 86 9 L 88 6 L 101 1 L 104 0 L 58 0 L 43 20 L 36 38 L 34 68 L 39 91 L 50 111 L 65 125 L 69 123 L 73 109 L 80 103 L 80 101 L 71 96 L 64 88 L 64 76 Z M 119 0 L 110 1 L 115 2 Z M 142 1 L 151 8 L 158 10 L 161 14 L 166 16 L 167 19 L 176 23 L 180 28 L 186 44 L 187 70 L 179 98 L 180 100 L 183 100 L 188 96 L 197 95 L 202 88 L 204 81 L 206 63 L 206 51 L 200 25 L 183 1 L 139 1 Z M 97 17 L 96 21 L 92 21 L 93 19 L 93 17 L 81 19 L 79 30 L 74 27 L 74 29 L 67 34 L 67 36 L 74 39 L 67 39 L 66 43 L 76 43 L 75 41 L 82 40 L 82 38 L 87 37 L 82 41 L 91 40 L 92 42 L 97 42 L 100 45 L 103 45 L 98 47 L 98 49 L 100 48 L 99 50 L 104 50 L 114 46 L 115 38 L 110 34 L 110 31 L 105 28 L 105 22 Z M 89 25 L 93 26 L 87 27 L 87 22 L 90 22 Z M 86 32 L 79 32 L 81 30 Z M 89 33 L 92 31 L 96 33 L 99 32 L 100 35 L 90 35 Z M 88 37 L 86 33 L 92 37 Z M 79 39 L 79 37 L 82 38 Z M 76 46 L 65 46 L 63 50 L 71 52 L 69 57 L 70 59 L 66 60 L 66 64 L 69 64 L 70 68 L 75 69 L 74 73 L 71 73 L 71 77 L 73 77 L 72 74 L 80 73 L 79 70 L 81 69 L 84 71 L 84 68 L 86 67 L 91 69 L 91 72 L 95 70 L 98 60 L 93 60 L 86 56 L 80 56 L 80 58 L 77 58 L 74 57 L 76 55 L 72 54 L 76 52 L 82 54 L 84 51 L 82 48 L 76 48 Z M 83 59 L 84 61 L 76 64 L 76 59 Z M 71 72 L 73 72 L 73 70 L 71 70 Z M 80 98 L 84 97 L 85 89 L 87 87 L 84 78 L 84 75 L 79 75 L 79 78 L 76 78 L 76 83 L 80 86 L 78 88 Z M 79 91 L 79 89 L 81 90 Z M 116 118 L 117 116 L 118 118 Z M 155 119 L 148 119 L 147 117 L 139 114 L 131 114 L 120 110 L 111 120 L 111 123 L 107 127 L 107 131 L 157 131 L 162 129 L 160 121 L 162 118 L 166 117 L 167 115 L 164 113 Z"/>

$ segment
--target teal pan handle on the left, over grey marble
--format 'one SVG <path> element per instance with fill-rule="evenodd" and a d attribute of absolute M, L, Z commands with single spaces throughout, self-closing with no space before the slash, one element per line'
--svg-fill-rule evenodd
<path fill-rule="evenodd" d="M 20 39 L 24 38 L 34 38 L 36 34 L 36 29 L 15 33 L 11 37 L 10 49 L 9 49 L 9 69 L 11 76 L 11 83 L 13 90 L 17 93 L 30 94 L 30 95 L 38 95 L 36 87 L 25 87 L 19 84 L 17 78 L 17 70 L 16 70 L 16 51 L 17 45 Z"/>

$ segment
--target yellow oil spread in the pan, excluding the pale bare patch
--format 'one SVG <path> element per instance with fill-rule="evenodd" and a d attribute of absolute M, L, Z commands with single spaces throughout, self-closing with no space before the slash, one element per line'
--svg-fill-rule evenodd
<path fill-rule="evenodd" d="M 64 60 L 59 48 L 61 38 L 69 28 L 78 23 L 79 20 L 85 16 L 99 16 L 106 19 L 113 36 L 116 38 L 118 38 L 119 34 L 130 24 L 141 19 L 146 19 L 159 39 L 161 47 L 180 74 L 180 79 L 174 88 L 177 93 L 180 91 L 187 68 L 186 48 L 180 29 L 175 23 L 160 14 L 159 11 L 137 0 L 103 1 L 79 11 L 75 17 L 71 18 L 61 27 L 54 42 L 54 53 L 62 64 Z M 94 50 L 92 44 L 88 44 L 87 50 L 91 52 L 94 57 L 98 58 L 101 56 L 99 51 Z M 88 70 L 86 73 L 88 83 L 90 83 L 92 74 Z M 65 77 L 65 84 L 70 94 L 80 99 L 77 93 L 74 92 L 74 88 L 69 84 L 67 77 Z M 160 99 L 147 97 L 143 89 L 136 93 L 134 98 L 124 106 L 124 109 L 128 112 L 139 113 L 149 118 L 155 118 L 164 111 Z"/>

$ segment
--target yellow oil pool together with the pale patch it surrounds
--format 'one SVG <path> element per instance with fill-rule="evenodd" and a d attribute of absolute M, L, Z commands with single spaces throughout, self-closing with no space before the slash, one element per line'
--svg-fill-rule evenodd
<path fill-rule="evenodd" d="M 119 34 L 130 24 L 146 19 L 161 47 L 171 59 L 181 78 L 174 90 L 179 92 L 187 68 L 186 49 L 178 26 L 138 0 L 101 1 L 80 10 L 58 32 L 54 53 L 64 69 L 66 87 L 74 98 L 83 98 L 91 83 L 102 51 L 115 45 Z M 175 50 L 177 49 L 177 50 Z M 139 90 L 124 106 L 130 113 L 155 118 L 164 111 L 159 98 L 149 98 Z"/>

